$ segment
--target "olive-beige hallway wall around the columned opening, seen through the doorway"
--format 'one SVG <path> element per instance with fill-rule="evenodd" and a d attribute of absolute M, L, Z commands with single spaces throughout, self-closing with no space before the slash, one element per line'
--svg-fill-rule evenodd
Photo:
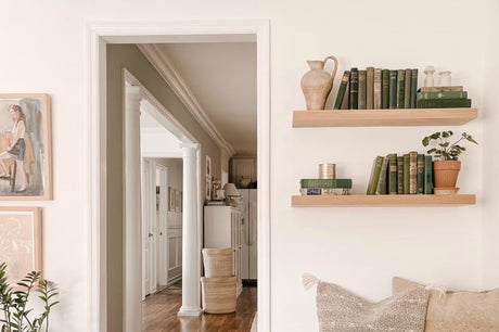
<path fill-rule="evenodd" d="M 121 71 L 127 68 L 191 132 L 206 154 L 213 175 L 220 177 L 220 150 L 135 44 L 107 46 L 107 327 L 121 330 L 123 319 L 123 130 Z M 205 188 L 205 175 L 200 181 Z M 140 285 L 137 285 L 140 286 Z"/>

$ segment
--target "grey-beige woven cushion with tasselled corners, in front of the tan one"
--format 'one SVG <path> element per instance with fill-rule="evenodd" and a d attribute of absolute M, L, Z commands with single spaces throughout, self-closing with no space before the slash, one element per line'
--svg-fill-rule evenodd
<path fill-rule="evenodd" d="M 423 331 L 426 304 L 423 288 L 372 303 L 334 283 L 320 281 L 317 286 L 320 331 Z"/>

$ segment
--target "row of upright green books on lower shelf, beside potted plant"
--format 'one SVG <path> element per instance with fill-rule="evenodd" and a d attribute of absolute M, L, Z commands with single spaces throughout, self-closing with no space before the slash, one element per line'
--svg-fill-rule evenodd
<path fill-rule="evenodd" d="M 368 183 L 368 195 L 432 194 L 433 163 L 431 155 L 411 151 L 376 156 Z"/>

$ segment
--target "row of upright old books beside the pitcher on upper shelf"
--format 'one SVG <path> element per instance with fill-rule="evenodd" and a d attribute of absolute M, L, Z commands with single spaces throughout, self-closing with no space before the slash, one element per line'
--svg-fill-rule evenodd
<path fill-rule="evenodd" d="M 415 108 L 418 69 L 345 71 L 334 110 Z"/>

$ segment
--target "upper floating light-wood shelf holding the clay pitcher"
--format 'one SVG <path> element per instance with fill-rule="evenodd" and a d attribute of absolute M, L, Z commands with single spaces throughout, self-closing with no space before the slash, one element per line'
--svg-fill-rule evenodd
<path fill-rule="evenodd" d="M 459 126 L 476 118 L 477 113 L 477 108 L 294 111 L 293 128 Z"/>

